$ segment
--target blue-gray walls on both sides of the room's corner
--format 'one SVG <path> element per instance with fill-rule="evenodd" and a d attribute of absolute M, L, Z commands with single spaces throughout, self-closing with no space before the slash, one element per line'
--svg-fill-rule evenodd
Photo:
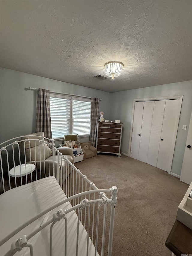
<path fill-rule="evenodd" d="M 0 68 L 0 79 L 0 143 L 13 137 L 35 132 L 36 92 L 28 90 L 31 86 L 101 98 L 100 111 L 104 111 L 104 118 L 113 121 L 121 120 L 123 123 L 121 152 L 125 154 L 129 146 L 133 100 L 183 95 L 171 170 L 180 175 L 192 110 L 192 81 L 109 93 L 5 68 Z M 182 130 L 183 124 L 187 125 L 187 130 Z M 56 146 L 59 143 L 62 141 L 56 142 Z"/>

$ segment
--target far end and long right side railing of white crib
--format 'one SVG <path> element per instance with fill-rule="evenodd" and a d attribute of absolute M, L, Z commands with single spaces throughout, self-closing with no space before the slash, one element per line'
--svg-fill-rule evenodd
<path fill-rule="evenodd" d="M 17 140 L 18 138 L 20 140 Z M 32 159 L 32 144 L 35 147 L 35 159 Z M 40 146 L 41 150 L 39 150 Z M 46 155 L 47 147 L 52 151 L 52 155 L 48 154 L 48 157 Z M 96 250 L 98 249 L 98 252 L 103 256 L 104 245 L 108 243 L 107 255 L 111 255 L 115 206 L 117 203 L 116 187 L 107 190 L 107 192 L 112 191 L 112 197 L 109 199 L 105 194 L 106 190 L 98 189 L 93 182 L 55 148 L 54 140 L 49 140 L 48 138 L 42 139 L 40 137 L 37 139 L 37 136 L 35 136 L 34 139 L 29 140 L 16 137 L 1 143 L 0 165 L 3 192 L 27 182 L 47 176 L 55 176 L 72 208 L 75 209 L 79 220 L 85 227 L 88 236 L 94 243 Z M 21 166 L 23 170 L 21 170 Z M 10 175 L 10 170 L 12 170 L 12 176 Z M 85 206 L 86 202 L 88 203 Z M 110 211 L 107 210 L 107 203 L 111 204 Z M 110 225 L 108 226 L 106 226 L 106 219 L 110 219 Z M 106 231 L 108 231 L 109 236 L 105 236 Z M 102 236 L 98 236 L 98 233 L 102 233 Z"/>

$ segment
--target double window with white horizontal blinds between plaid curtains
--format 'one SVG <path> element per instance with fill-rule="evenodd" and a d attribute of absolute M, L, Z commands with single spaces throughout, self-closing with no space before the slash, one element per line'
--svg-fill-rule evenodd
<path fill-rule="evenodd" d="M 50 93 L 50 110 L 53 138 L 67 134 L 90 135 L 91 100 Z"/>

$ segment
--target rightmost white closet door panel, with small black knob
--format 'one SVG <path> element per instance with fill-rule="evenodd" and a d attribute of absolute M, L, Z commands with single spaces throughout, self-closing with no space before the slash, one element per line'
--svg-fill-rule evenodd
<path fill-rule="evenodd" d="M 176 137 L 174 138 L 174 131 L 178 128 L 178 126 L 176 125 L 178 106 L 179 100 L 167 100 L 165 104 L 165 112 L 157 162 L 157 167 L 165 171 L 171 170 L 176 141 Z"/>

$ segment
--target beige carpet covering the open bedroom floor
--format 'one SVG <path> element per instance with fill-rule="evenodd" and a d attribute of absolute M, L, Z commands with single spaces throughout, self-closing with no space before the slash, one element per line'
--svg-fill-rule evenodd
<path fill-rule="evenodd" d="M 99 154 L 75 166 L 98 188 L 118 187 L 113 256 L 171 255 L 165 241 L 187 184 L 124 155 Z"/>

